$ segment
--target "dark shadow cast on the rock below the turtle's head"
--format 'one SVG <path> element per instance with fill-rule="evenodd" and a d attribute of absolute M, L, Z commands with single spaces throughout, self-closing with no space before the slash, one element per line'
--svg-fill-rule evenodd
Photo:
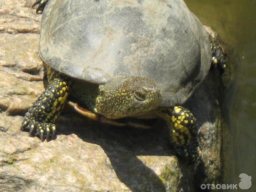
<path fill-rule="evenodd" d="M 102 125 L 79 116 L 74 116 L 76 120 L 72 122 L 65 116 L 62 118 L 58 121 L 58 127 L 61 128 L 64 123 L 72 129 L 59 131 L 63 131 L 63 134 L 74 133 L 85 142 L 100 145 L 110 160 L 106 160 L 106 166 L 111 167 L 119 180 L 131 191 L 166 192 L 166 186 L 160 177 L 137 157 L 173 155 L 168 130 L 164 125 L 161 125 L 161 128 L 141 130 Z M 84 131 L 81 131 L 81 124 L 86 127 Z"/>

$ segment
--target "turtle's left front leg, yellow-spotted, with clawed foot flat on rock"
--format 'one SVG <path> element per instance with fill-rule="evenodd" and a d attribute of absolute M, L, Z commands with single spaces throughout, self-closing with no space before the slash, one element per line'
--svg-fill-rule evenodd
<path fill-rule="evenodd" d="M 55 121 L 67 100 L 70 83 L 61 78 L 53 79 L 25 114 L 20 129 L 28 130 L 29 136 L 38 136 L 41 141 L 55 139 Z"/>

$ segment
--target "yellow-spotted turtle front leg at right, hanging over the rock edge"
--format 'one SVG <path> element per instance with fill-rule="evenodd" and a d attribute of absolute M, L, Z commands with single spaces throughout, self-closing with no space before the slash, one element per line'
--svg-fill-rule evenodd
<path fill-rule="evenodd" d="M 197 123 L 194 115 L 181 106 L 162 108 L 161 116 L 169 127 L 170 141 L 178 156 L 189 163 L 198 158 Z"/>

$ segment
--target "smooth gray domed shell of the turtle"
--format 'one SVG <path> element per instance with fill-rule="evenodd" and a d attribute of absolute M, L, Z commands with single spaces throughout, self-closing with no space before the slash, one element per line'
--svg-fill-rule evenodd
<path fill-rule="evenodd" d="M 182 0 L 49 0 L 39 54 L 56 70 L 97 84 L 153 79 L 162 106 L 186 102 L 211 60 L 209 36 Z"/>

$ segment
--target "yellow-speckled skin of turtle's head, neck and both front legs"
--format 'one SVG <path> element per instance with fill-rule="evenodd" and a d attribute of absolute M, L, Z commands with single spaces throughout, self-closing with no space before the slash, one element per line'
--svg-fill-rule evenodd
<path fill-rule="evenodd" d="M 196 121 L 192 113 L 181 106 L 160 107 L 161 93 L 157 83 L 142 77 L 116 78 L 109 84 L 93 85 L 81 80 L 70 80 L 47 66 L 48 86 L 26 113 L 21 130 L 42 141 L 55 139 L 55 122 L 68 95 L 94 113 L 110 119 L 127 116 L 157 116 L 166 121 L 170 140 L 181 157 L 194 162 L 198 157 L 195 143 Z M 193 142 L 192 142 L 193 141 Z"/>

